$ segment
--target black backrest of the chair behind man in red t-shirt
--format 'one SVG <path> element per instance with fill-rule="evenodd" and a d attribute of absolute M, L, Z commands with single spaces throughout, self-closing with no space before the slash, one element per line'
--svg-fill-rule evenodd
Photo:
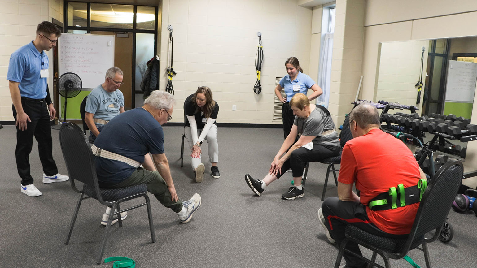
<path fill-rule="evenodd" d="M 456 159 L 449 160 L 428 182 L 417 210 L 410 238 L 422 237 L 426 233 L 436 230 L 436 235 L 428 242 L 437 238 L 447 218 L 447 214 L 456 197 L 464 175 L 462 163 Z M 412 239 L 409 239 L 409 245 Z"/>

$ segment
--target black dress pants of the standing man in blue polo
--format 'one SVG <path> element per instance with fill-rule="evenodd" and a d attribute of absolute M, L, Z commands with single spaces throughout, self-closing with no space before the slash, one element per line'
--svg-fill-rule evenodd
<path fill-rule="evenodd" d="M 21 185 L 26 186 L 33 183 L 33 177 L 30 174 L 30 153 L 33 147 L 33 136 L 38 142 L 38 154 L 40 155 L 45 175 L 52 176 L 57 174 L 58 168 L 52 155 L 52 129 L 46 102 L 22 98 L 21 105 L 23 106 L 23 111 L 30 117 L 31 122 L 27 120 L 26 130 L 20 130 L 17 126 L 15 159 L 18 175 L 21 178 Z M 17 120 L 17 111 L 13 105 L 12 110 L 13 117 Z"/>

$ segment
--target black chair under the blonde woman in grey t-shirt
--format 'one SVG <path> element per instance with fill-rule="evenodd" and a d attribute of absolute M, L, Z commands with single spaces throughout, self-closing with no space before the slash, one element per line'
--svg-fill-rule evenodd
<path fill-rule="evenodd" d="M 346 116 L 343 121 L 343 127 L 340 132 L 340 154 L 332 157 L 327 157 L 323 160 L 320 160 L 321 164 L 328 165 L 328 168 L 326 169 L 326 177 L 325 177 L 325 183 L 323 185 L 323 193 L 321 194 L 321 201 L 325 199 L 325 194 L 326 194 L 326 186 L 328 185 L 328 178 L 330 177 L 330 173 L 333 173 L 334 176 L 334 183 L 336 186 L 338 186 L 338 177 L 336 176 L 336 172 L 340 171 L 339 167 L 335 167 L 335 165 L 340 165 L 341 163 L 341 153 L 342 149 L 344 147 L 344 144 L 346 144 L 347 141 L 353 139 L 353 134 L 351 134 L 351 130 L 349 129 L 349 124 L 350 124 L 350 119 L 349 116 Z M 308 175 L 308 167 L 310 166 L 310 162 L 306 163 L 306 168 L 305 168 L 305 174 L 303 174 L 303 186 L 305 186 L 306 183 L 306 176 Z"/>

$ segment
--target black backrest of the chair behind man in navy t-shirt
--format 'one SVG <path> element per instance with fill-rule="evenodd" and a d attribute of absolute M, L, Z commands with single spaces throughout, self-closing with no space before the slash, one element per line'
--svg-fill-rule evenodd
<path fill-rule="evenodd" d="M 70 122 L 62 124 L 60 146 L 73 190 L 82 192 L 76 188 L 76 180 L 95 188 L 97 196 L 101 196 L 91 146 L 78 125 Z"/>

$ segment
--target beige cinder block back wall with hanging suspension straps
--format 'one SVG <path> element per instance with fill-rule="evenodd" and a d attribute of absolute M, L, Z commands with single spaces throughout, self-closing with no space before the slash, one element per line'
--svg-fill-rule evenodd
<path fill-rule="evenodd" d="M 275 77 L 286 75 L 285 60 L 290 56 L 309 72 L 311 21 L 312 8 L 301 7 L 296 0 L 164 0 L 160 57 L 165 73 L 170 24 L 177 72 L 173 121 L 184 120 L 184 100 L 198 86 L 207 85 L 220 106 L 219 123 L 281 124 L 272 120 Z M 258 31 L 265 57 L 259 95 L 253 92 Z M 166 76 L 160 81 L 164 90 Z"/>

